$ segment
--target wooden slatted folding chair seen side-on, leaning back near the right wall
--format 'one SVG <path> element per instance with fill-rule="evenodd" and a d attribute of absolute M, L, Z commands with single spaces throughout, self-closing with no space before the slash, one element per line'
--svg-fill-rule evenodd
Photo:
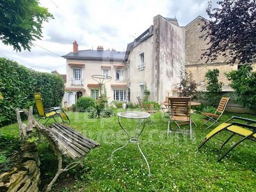
<path fill-rule="evenodd" d="M 219 103 L 219 106 L 214 114 L 212 113 L 202 113 L 202 115 L 206 116 L 208 118 L 208 121 L 206 121 L 203 125 L 207 125 L 208 122 L 213 121 L 213 123 L 206 127 L 206 129 L 210 128 L 212 125 L 217 124 L 219 125 L 218 121 L 220 117 L 222 116 L 223 112 L 226 109 L 227 103 L 228 103 L 229 97 L 222 97 Z M 218 114 L 219 115 L 218 115 Z M 202 126 L 203 126 L 202 125 Z"/>

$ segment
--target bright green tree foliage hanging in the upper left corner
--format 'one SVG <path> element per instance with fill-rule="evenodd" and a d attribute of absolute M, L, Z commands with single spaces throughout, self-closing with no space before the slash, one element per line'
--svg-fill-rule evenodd
<path fill-rule="evenodd" d="M 42 23 L 54 19 L 38 0 L 0 0 L 0 40 L 16 51 L 31 49 L 42 37 Z"/>

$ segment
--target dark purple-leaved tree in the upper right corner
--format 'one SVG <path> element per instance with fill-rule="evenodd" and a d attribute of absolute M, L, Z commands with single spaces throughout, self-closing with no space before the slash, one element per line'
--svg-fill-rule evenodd
<path fill-rule="evenodd" d="M 202 54 L 207 61 L 223 55 L 234 64 L 256 61 L 256 3 L 255 0 L 222 0 L 206 9 L 210 21 L 204 21 L 202 31 L 209 48 Z M 207 62 L 206 61 L 206 62 Z"/>

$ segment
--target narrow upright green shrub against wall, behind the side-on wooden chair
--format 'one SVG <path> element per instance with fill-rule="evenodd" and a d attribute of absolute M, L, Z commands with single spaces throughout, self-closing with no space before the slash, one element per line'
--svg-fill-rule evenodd
<path fill-rule="evenodd" d="M 221 99 L 221 87 L 223 83 L 218 80 L 219 74 L 219 69 L 208 70 L 205 74 L 207 83 L 205 99 L 213 107 L 217 107 Z"/>

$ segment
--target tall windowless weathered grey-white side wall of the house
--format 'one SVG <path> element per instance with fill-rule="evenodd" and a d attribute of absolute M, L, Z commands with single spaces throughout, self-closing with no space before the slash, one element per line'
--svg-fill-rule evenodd
<path fill-rule="evenodd" d="M 158 77 L 158 102 L 172 95 L 185 68 L 185 29 L 157 15 L 154 18 L 154 77 Z M 157 60 L 158 59 L 158 60 Z"/>

